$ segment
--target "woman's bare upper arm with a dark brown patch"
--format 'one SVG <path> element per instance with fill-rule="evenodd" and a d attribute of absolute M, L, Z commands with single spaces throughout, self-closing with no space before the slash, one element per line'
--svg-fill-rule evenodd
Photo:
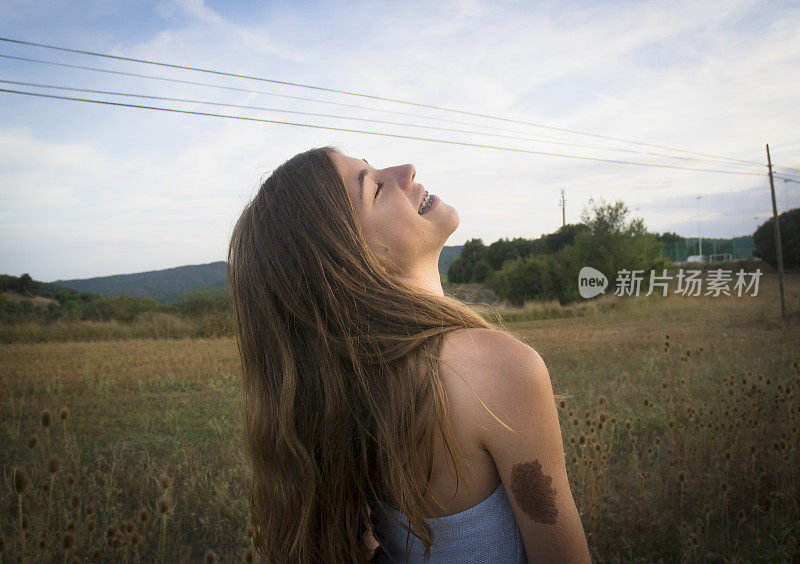
<path fill-rule="evenodd" d="M 528 559 L 590 562 L 570 490 L 550 375 L 530 346 L 501 331 L 483 331 L 492 374 L 476 390 L 515 432 L 475 405 L 478 441 L 494 460 L 519 524 Z"/>

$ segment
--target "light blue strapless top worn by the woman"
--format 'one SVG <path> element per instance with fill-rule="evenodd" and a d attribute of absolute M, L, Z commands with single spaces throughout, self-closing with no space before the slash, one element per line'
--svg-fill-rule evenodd
<path fill-rule="evenodd" d="M 525 546 L 519 525 L 506 495 L 503 482 L 479 504 L 453 515 L 425 520 L 431 526 L 433 542 L 426 560 L 425 545 L 413 534 L 392 521 L 380 511 L 377 504 L 372 507 L 372 527 L 375 539 L 382 551 L 375 558 L 378 564 L 406 562 L 406 539 L 410 548 L 408 562 L 431 562 L 464 564 L 525 564 Z M 408 517 L 393 507 L 388 510 L 408 526 Z"/>

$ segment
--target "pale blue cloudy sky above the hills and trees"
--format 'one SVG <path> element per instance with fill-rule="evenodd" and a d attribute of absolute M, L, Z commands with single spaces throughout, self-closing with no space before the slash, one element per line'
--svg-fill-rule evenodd
<path fill-rule="evenodd" d="M 293 155 L 324 145 L 376 168 L 414 164 L 416 181 L 458 210 L 447 245 L 553 232 L 562 222 L 562 189 L 567 223 L 580 221 L 590 198 L 603 198 L 622 200 L 652 232 L 748 235 L 772 213 L 765 144 L 776 173 L 800 180 L 798 2 L 0 0 L 0 14 L 4 38 L 505 121 L 0 41 L 0 55 L 173 82 L 7 57 L 0 57 L 0 80 L 340 117 L 8 82 L 0 83 L 4 89 L 757 173 L 0 92 L 4 274 L 53 281 L 225 260 L 233 226 L 260 181 Z M 587 144 L 595 147 L 576 146 Z M 775 193 L 778 213 L 800 206 L 800 183 L 776 179 Z"/>

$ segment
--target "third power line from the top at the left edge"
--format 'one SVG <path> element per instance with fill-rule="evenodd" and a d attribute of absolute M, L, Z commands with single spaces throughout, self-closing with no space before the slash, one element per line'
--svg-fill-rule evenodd
<path fill-rule="evenodd" d="M 719 161 L 714 161 L 710 159 L 700 159 L 697 157 L 682 157 L 678 155 L 666 155 L 663 153 L 654 153 L 649 151 L 638 151 L 636 149 L 623 149 L 623 148 L 615 148 L 615 147 L 602 147 L 599 145 L 592 145 L 588 143 L 573 143 L 569 141 L 558 141 L 558 140 L 550 140 L 547 138 L 536 138 L 536 137 L 525 137 L 525 136 L 514 136 L 514 135 L 502 135 L 498 133 L 488 133 L 484 131 L 471 131 L 471 130 L 464 130 L 464 129 L 454 129 L 450 127 L 436 127 L 431 125 L 421 125 L 421 124 L 413 124 L 413 123 L 403 123 L 403 122 L 396 122 L 396 121 L 388 121 L 388 120 L 378 120 L 378 119 L 370 119 L 370 118 L 359 118 L 359 117 L 351 117 L 351 116 L 342 116 L 336 114 L 323 114 L 323 113 L 316 113 L 316 112 L 302 112 L 296 110 L 285 110 L 280 108 L 267 108 L 264 106 L 250 106 L 244 104 L 229 104 L 223 102 L 212 102 L 207 100 L 193 100 L 188 98 L 171 98 L 167 96 L 155 96 L 155 95 L 148 95 L 148 94 L 133 94 L 128 92 L 116 92 L 110 90 L 95 90 L 90 88 L 77 88 L 71 86 L 62 86 L 62 85 L 55 85 L 55 84 L 41 84 L 36 82 L 22 82 L 17 80 L 5 80 L 0 79 L 0 83 L 5 84 L 15 84 L 17 86 L 32 86 L 36 88 L 51 88 L 56 90 L 69 90 L 73 92 L 85 92 L 91 94 L 106 94 L 111 96 L 126 96 L 132 98 L 145 98 L 150 100 L 162 100 L 168 102 L 185 102 L 191 104 L 208 104 L 212 106 L 221 106 L 227 108 L 240 108 L 240 109 L 249 109 L 249 110 L 262 110 L 262 111 L 270 111 L 270 112 L 280 112 L 280 113 L 288 113 L 294 115 L 306 115 L 306 116 L 314 116 L 314 117 L 327 117 L 327 118 L 335 118 L 335 119 L 348 119 L 354 121 L 362 121 L 362 122 L 370 122 L 370 123 L 382 123 L 387 125 L 399 125 L 405 127 L 419 127 L 422 129 L 433 129 L 437 131 L 450 131 L 455 133 L 468 133 L 468 134 L 475 134 L 475 135 L 486 135 L 490 137 L 500 137 L 505 139 L 516 139 L 522 141 L 534 141 L 534 142 L 545 142 L 545 143 L 554 143 L 557 145 L 569 145 L 574 147 L 586 147 L 591 149 L 599 149 L 603 151 L 621 151 L 626 153 L 635 153 L 640 155 L 647 155 L 647 156 L 655 156 L 655 157 L 663 157 L 669 159 L 678 159 L 684 161 L 700 161 L 700 162 L 711 162 L 717 163 Z"/>

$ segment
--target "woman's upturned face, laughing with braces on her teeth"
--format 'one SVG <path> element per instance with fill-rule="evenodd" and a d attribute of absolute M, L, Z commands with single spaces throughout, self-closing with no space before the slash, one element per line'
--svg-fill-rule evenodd
<path fill-rule="evenodd" d="M 458 227 L 456 209 L 437 196 L 419 214 L 425 187 L 414 181 L 413 165 L 376 169 L 364 159 L 341 153 L 333 157 L 370 249 L 407 275 L 430 261 L 438 265 L 442 247 Z"/>

